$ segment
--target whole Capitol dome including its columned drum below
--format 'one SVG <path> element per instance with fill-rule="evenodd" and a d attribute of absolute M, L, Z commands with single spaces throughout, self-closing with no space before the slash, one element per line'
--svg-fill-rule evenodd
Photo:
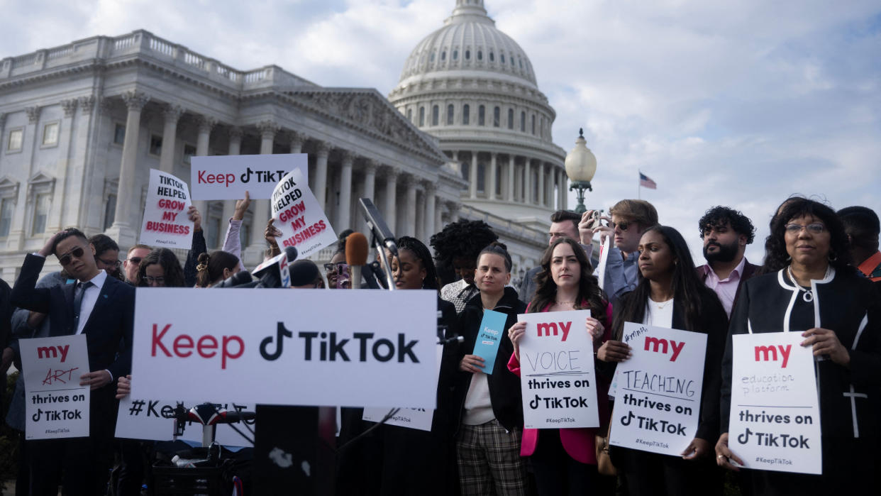
<path fill-rule="evenodd" d="M 456 0 L 444 26 L 404 61 L 389 101 L 437 138 L 467 181 L 461 216 L 489 222 L 515 266 L 535 266 L 551 213 L 566 208 L 566 152 L 553 143 L 556 113 L 529 56 L 496 28 L 483 0 Z"/>

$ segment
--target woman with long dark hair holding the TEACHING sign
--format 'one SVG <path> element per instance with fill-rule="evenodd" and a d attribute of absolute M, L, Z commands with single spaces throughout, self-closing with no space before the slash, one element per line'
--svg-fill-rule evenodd
<path fill-rule="evenodd" d="M 701 283 L 688 244 L 676 229 L 649 227 L 637 252 L 639 283 L 615 308 L 615 338 L 603 344 L 596 358 L 610 363 L 629 358 L 630 346 L 622 337 L 624 322 L 706 334 L 700 421 L 682 458 L 612 447 L 612 461 L 633 495 L 717 494 L 722 491 L 722 478 L 710 456 L 719 432 L 717 364 L 722 360 L 728 315 L 715 293 Z"/>

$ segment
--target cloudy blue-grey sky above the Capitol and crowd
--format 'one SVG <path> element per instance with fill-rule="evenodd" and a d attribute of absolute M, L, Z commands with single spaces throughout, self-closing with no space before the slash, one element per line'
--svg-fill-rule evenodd
<path fill-rule="evenodd" d="M 757 227 L 793 194 L 881 212 L 877 0 L 486 0 L 526 51 L 567 152 L 584 128 L 589 208 L 640 195 L 700 263 L 698 219 Z M 0 0 L 0 58 L 146 29 L 236 69 L 277 64 L 388 94 L 455 0 Z M 657 189 L 638 190 L 638 171 Z M 574 194 L 570 195 L 574 206 Z"/>

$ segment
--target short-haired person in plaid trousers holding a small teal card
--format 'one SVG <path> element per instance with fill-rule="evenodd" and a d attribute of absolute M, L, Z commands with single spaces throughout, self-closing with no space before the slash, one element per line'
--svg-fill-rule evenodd
<path fill-rule="evenodd" d="M 502 329 L 526 311 L 515 289 L 507 287 L 511 266 L 505 245 L 493 241 L 484 248 L 474 273 L 479 292 L 460 315 L 465 341 L 456 384 L 461 421 L 455 447 L 463 496 L 528 493 L 526 463 L 518 454 L 523 426 L 520 381 L 506 367 L 514 344 L 502 330 L 492 370 L 485 369 L 484 359 L 464 354 L 473 352 L 478 342 L 485 310 L 507 315 Z"/>

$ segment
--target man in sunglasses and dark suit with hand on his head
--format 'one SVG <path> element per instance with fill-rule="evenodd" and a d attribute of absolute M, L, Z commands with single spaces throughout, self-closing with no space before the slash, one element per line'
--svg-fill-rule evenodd
<path fill-rule="evenodd" d="M 77 284 L 36 288 L 49 254 Z M 11 300 L 18 307 L 49 316 L 49 336 L 85 334 L 91 372 L 79 378 L 92 389 L 89 437 L 34 440 L 31 455 L 31 493 L 99 494 L 113 463 L 115 384 L 130 374 L 135 289 L 107 277 L 95 263 L 95 248 L 78 229 L 56 233 L 35 254 L 27 255 Z M 78 304 L 78 305 L 77 305 Z M 78 308 L 76 308 L 78 306 Z"/>

